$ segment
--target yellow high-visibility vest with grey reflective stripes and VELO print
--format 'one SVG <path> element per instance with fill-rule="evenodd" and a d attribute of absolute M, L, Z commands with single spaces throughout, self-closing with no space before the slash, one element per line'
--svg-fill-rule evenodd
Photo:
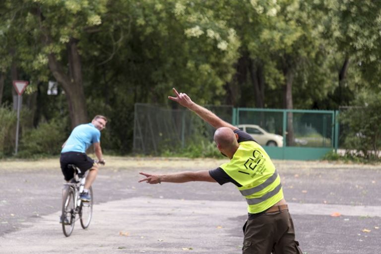
<path fill-rule="evenodd" d="M 242 185 L 238 187 L 248 202 L 248 212 L 262 212 L 283 198 L 280 177 L 263 147 L 244 141 L 233 158 L 220 166 L 226 174 Z"/>

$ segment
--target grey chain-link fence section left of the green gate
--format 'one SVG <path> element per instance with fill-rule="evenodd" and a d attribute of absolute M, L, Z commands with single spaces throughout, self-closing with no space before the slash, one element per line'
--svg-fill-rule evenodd
<path fill-rule="evenodd" d="M 227 122 L 233 107 L 206 107 Z M 211 142 L 213 127 L 187 109 L 169 109 L 160 105 L 135 104 L 133 151 L 158 155 L 176 152 L 191 144 Z"/>

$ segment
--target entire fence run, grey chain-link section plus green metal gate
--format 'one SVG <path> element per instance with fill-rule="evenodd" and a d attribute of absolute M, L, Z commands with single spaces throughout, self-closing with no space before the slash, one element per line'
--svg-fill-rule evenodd
<path fill-rule="evenodd" d="M 337 149 L 335 111 L 207 107 L 254 136 L 274 159 L 317 160 Z M 186 109 L 135 104 L 133 150 L 160 155 L 213 141 L 214 129 Z M 251 133 L 252 132 L 252 133 Z"/>

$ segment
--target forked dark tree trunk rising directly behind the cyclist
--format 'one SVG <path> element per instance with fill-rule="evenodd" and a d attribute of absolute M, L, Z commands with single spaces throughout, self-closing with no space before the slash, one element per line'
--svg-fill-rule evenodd
<path fill-rule="evenodd" d="M 76 43 L 77 42 L 73 39 L 67 43 L 69 74 L 64 72 L 62 64 L 57 61 L 57 58 L 53 53 L 48 55 L 49 68 L 52 71 L 53 76 L 62 85 L 66 94 L 71 127 L 76 127 L 77 125 L 88 121 L 82 84 L 81 61 Z"/>

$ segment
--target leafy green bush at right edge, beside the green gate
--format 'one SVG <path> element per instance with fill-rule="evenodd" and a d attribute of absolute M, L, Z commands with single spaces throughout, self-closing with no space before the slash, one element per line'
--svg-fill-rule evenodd
<path fill-rule="evenodd" d="M 344 141 L 347 154 L 366 159 L 379 159 L 381 149 L 381 93 L 362 93 L 351 107 L 340 113 L 347 126 Z"/>

